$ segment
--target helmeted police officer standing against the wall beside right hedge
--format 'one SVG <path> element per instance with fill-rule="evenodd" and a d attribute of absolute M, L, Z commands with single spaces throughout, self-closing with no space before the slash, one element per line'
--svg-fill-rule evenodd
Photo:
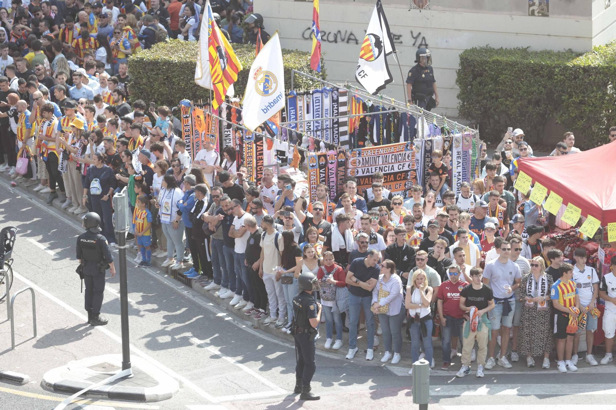
<path fill-rule="evenodd" d="M 417 49 L 415 62 L 417 64 L 408 70 L 407 94 L 411 98 L 408 102 L 431 111 L 439 106 L 439 91 L 436 89 L 430 50 L 426 47 Z"/>

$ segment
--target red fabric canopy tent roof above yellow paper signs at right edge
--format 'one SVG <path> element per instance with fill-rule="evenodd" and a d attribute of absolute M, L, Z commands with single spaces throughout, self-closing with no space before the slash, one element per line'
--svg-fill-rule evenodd
<path fill-rule="evenodd" d="M 616 222 L 616 143 L 572 155 L 520 158 L 517 166 L 549 191 L 562 196 L 562 203 L 593 215 L 605 227 Z"/>

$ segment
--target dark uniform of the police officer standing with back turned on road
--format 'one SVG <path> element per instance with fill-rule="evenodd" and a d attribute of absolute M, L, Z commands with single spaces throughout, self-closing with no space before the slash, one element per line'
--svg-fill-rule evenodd
<path fill-rule="evenodd" d="M 105 291 L 105 265 L 113 262 L 113 255 L 105 236 L 90 230 L 77 238 L 77 259 L 83 263 L 86 282 L 86 311 L 93 317 L 100 314 Z"/>

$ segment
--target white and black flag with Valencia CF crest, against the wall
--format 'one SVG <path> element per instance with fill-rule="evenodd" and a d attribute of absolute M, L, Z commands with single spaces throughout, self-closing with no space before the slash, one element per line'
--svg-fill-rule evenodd
<path fill-rule="evenodd" d="M 387 65 L 387 55 L 394 51 L 394 39 L 389 31 L 383 4 L 381 0 L 376 0 L 355 71 L 355 79 L 370 94 L 376 94 L 393 81 Z"/>

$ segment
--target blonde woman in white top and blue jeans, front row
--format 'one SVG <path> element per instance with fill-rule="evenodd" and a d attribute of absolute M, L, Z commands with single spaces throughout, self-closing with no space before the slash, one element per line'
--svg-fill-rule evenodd
<path fill-rule="evenodd" d="M 423 343 L 424 353 L 428 363 L 432 363 L 432 312 L 430 302 L 432 289 L 428 286 L 428 275 L 422 269 L 413 272 L 413 277 L 407 285 L 407 295 L 404 305 L 408 309 L 408 320 L 411 322 L 411 356 L 413 363 L 419 360 L 419 344 Z M 408 374 L 413 374 L 411 368 Z"/>

